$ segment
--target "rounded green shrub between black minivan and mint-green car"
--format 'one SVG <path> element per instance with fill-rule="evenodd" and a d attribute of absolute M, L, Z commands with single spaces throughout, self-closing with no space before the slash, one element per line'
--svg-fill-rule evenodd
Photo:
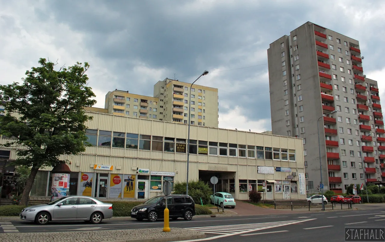
<path fill-rule="evenodd" d="M 176 182 L 174 184 L 174 194 L 186 194 L 186 182 Z M 194 199 L 195 204 L 201 204 L 201 198 L 203 204 L 209 204 L 210 195 L 213 194 L 213 190 L 209 185 L 201 180 L 189 181 L 189 195 Z"/>

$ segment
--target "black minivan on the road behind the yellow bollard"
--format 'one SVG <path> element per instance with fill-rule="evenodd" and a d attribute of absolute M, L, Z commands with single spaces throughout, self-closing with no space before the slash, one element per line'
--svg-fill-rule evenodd
<path fill-rule="evenodd" d="M 189 195 L 172 194 L 167 196 L 167 208 L 171 219 L 184 218 L 191 220 L 195 216 L 195 204 Z M 156 196 L 147 200 L 144 204 L 137 205 L 131 210 L 131 217 L 142 221 L 148 219 L 155 222 L 164 218 L 166 209 L 166 196 Z"/>

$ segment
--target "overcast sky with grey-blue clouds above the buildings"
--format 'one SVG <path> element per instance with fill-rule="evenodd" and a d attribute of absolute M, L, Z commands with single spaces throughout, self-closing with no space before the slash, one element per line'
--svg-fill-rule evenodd
<path fill-rule="evenodd" d="M 269 43 L 307 21 L 360 41 L 385 100 L 384 12 L 383 0 L 0 0 L 0 84 L 20 82 L 40 57 L 89 62 L 104 108 L 109 90 L 152 96 L 158 80 L 209 70 L 197 84 L 219 89 L 219 127 L 263 132 Z"/>

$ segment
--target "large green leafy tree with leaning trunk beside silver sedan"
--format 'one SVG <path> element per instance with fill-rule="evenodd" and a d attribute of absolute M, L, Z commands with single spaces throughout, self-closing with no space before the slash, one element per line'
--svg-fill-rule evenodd
<path fill-rule="evenodd" d="M 5 115 L 0 118 L 0 134 L 12 137 L 4 147 L 17 149 L 15 164 L 31 167 L 20 204 L 27 205 L 36 174 L 42 166 L 67 162 L 62 155 L 85 151 L 85 122 L 92 117 L 84 107 L 96 103 L 95 94 L 87 87 L 87 62 L 56 68 L 44 58 L 40 67 L 32 67 L 23 78 L 0 86 L 0 101 L 5 102 Z M 55 70 L 57 69 L 57 70 Z"/>

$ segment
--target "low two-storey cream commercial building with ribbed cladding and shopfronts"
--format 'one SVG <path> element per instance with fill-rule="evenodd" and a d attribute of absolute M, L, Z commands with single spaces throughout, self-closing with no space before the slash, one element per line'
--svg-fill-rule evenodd
<path fill-rule="evenodd" d="M 91 147 L 69 160 L 70 195 L 145 200 L 162 183 L 186 181 L 187 125 L 87 112 Z M 264 199 L 305 199 L 302 139 L 191 126 L 190 180 L 219 179 L 216 191 L 248 200 L 251 190 Z M 2 144 L 7 139 L 2 137 Z M 15 150 L 10 150 L 15 159 Z M 31 196 L 50 196 L 52 167 L 38 172 Z M 211 185 L 212 186 L 212 185 Z"/>

